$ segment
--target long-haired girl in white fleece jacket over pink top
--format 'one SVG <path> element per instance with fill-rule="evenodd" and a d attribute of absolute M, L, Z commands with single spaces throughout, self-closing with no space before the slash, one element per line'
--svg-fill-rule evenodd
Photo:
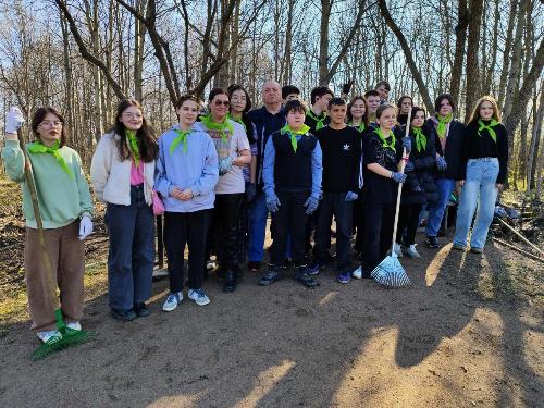
<path fill-rule="evenodd" d="M 109 304 L 121 321 L 146 317 L 154 265 L 152 187 L 159 148 L 141 106 L 124 99 L 115 124 L 97 146 L 90 177 L 98 199 L 108 205 L 110 237 Z"/>

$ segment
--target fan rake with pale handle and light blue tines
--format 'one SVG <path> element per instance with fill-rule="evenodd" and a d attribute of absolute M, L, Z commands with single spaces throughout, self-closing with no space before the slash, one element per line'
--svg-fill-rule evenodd
<path fill-rule="evenodd" d="M 408 118 L 406 120 L 406 133 L 405 137 L 408 137 L 410 132 L 410 121 L 411 121 L 411 109 L 408 111 Z M 400 161 L 400 173 L 405 172 L 406 162 L 404 158 L 406 157 L 406 148 L 403 148 L 403 160 Z M 395 251 L 395 242 L 397 237 L 397 226 L 398 226 L 398 212 L 400 209 L 400 195 L 403 193 L 403 183 L 398 185 L 397 193 L 397 205 L 395 209 L 395 223 L 393 224 L 393 244 L 391 246 L 391 255 L 385 257 L 385 259 L 379 263 L 378 267 L 370 273 L 370 276 L 376 281 L 380 285 L 391 286 L 391 287 L 401 287 L 409 285 L 410 279 L 406 274 L 403 265 L 398 260 L 398 255 Z"/>

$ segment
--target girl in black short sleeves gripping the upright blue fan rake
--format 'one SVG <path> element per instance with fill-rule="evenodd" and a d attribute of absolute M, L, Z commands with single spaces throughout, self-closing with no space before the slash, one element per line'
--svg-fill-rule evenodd
<path fill-rule="evenodd" d="M 366 250 L 362 264 L 353 276 L 370 277 L 371 272 L 383 260 L 391 246 L 395 202 L 398 183 L 406 181 L 406 174 L 397 171 L 403 160 L 403 146 L 410 151 L 409 138 L 398 140 L 393 134 L 397 123 L 397 108 L 384 103 L 378 108 L 376 127 L 369 134 L 364 150 L 364 203 L 366 203 Z"/>

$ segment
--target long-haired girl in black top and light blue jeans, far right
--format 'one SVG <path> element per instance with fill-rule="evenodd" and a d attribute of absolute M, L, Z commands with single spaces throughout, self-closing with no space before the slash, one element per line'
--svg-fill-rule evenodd
<path fill-rule="evenodd" d="M 498 191 L 506 182 L 508 135 L 500 123 L 497 102 L 491 96 L 480 98 L 465 131 L 462 146 L 462 186 L 454 249 L 463 250 L 478 206 L 470 237 L 470 250 L 481 254 L 493 221 Z"/>

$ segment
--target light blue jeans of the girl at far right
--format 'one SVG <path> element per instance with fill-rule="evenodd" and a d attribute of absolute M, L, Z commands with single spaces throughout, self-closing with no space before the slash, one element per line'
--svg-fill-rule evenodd
<path fill-rule="evenodd" d="M 468 161 L 467 180 L 457 209 L 455 245 L 467 245 L 467 235 L 478 203 L 478 214 L 470 237 L 470 246 L 472 248 L 484 247 L 487 231 L 495 213 L 497 175 L 498 160 L 496 158 L 470 159 Z"/>

